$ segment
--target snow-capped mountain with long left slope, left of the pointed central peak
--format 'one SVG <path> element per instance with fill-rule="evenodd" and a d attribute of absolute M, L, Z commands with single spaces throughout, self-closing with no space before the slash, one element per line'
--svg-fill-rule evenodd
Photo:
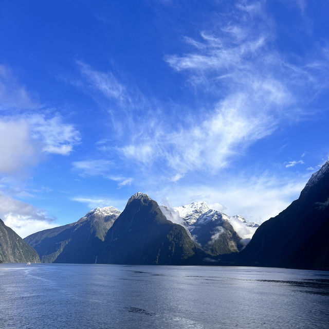
<path fill-rule="evenodd" d="M 78 222 L 36 232 L 24 240 L 44 263 L 95 263 L 104 237 L 119 215 L 114 207 L 96 208 Z"/>

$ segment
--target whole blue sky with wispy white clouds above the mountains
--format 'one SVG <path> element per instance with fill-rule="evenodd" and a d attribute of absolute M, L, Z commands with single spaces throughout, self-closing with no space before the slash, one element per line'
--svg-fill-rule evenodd
<path fill-rule="evenodd" d="M 4 1 L 0 217 L 203 200 L 261 223 L 328 159 L 326 1 Z"/>

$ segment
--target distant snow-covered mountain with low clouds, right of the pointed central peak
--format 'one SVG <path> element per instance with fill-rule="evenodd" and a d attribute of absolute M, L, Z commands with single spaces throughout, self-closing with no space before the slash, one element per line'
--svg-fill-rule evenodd
<path fill-rule="evenodd" d="M 168 220 L 186 227 L 192 239 L 211 255 L 242 250 L 259 226 L 240 215 L 229 217 L 212 210 L 204 202 L 160 208 Z"/>

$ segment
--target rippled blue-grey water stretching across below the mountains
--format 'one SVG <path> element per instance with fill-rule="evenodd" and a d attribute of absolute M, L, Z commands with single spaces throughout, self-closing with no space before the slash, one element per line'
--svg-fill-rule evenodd
<path fill-rule="evenodd" d="M 0 264 L 0 328 L 329 328 L 329 272 Z"/>

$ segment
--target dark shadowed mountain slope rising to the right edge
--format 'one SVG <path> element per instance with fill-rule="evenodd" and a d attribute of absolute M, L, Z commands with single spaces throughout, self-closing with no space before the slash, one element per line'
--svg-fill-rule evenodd
<path fill-rule="evenodd" d="M 329 269 L 329 161 L 299 198 L 264 222 L 239 254 L 240 265 Z"/>

